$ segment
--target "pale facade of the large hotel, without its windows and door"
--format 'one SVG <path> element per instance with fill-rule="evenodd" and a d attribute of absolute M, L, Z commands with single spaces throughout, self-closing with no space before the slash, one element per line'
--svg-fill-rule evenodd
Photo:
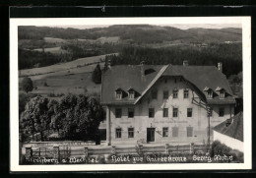
<path fill-rule="evenodd" d="M 158 99 L 152 99 L 150 92 L 158 89 Z M 110 118 L 111 145 L 136 144 L 137 141 L 147 143 L 147 128 L 156 128 L 155 144 L 183 144 L 183 143 L 207 143 L 208 141 L 208 117 L 204 103 L 201 104 L 199 96 L 194 89 L 183 80 L 173 78 L 160 79 L 155 86 L 135 106 L 108 106 L 107 119 Z M 178 89 L 178 98 L 173 98 L 173 89 Z M 183 97 L 184 89 L 189 89 L 189 97 Z M 168 99 L 163 99 L 163 90 L 168 90 Z M 128 108 L 134 108 L 134 118 L 128 118 Z M 230 117 L 229 105 L 224 105 L 224 117 L 219 117 L 219 106 L 213 106 L 211 127 L 223 122 Z M 115 108 L 122 108 L 122 117 L 115 118 Z M 149 108 L 155 108 L 155 117 L 149 118 Z M 163 108 L 168 108 L 168 117 L 163 117 Z M 172 117 L 173 108 L 178 108 L 178 117 Z M 187 108 L 192 108 L 192 117 L 187 117 Z M 128 138 L 128 128 L 134 128 L 134 138 Z M 168 128 L 168 136 L 162 137 L 162 128 Z M 172 128 L 178 127 L 178 137 L 172 137 Z M 187 137 L 187 127 L 193 128 L 192 137 Z M 115 129 L 122 129 L 121 138 L 116 138 Z M 108 130 L 109 131 L 109 130 Z M 109 139 L 108 139 L 109 140 Z M 154 144 L 152 143 L 152 144 Z"/>

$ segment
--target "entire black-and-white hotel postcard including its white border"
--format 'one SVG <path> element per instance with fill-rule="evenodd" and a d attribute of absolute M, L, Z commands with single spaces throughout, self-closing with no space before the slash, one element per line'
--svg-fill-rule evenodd
<path fill-rule="evenodd" d="M 250 17 L 10 19 L 10 89 L 11 171 L 251 169 Z"/>

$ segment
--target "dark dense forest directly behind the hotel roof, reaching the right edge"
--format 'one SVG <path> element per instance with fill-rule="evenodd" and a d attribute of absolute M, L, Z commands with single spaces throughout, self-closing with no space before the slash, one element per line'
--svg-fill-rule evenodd
<path fill-rule="evenodd" d="M 214 65 L 223 63 L 224 74 L 229 77 L 242 71 L 242 46 L 235 44 L 216 44 L 207 48 L 193 46 L 172 46 L 168 48 L 125 47 L 117 55 L 106 56 L 111 65 L 139 65 L 144 61 L 148 65 Z"/>

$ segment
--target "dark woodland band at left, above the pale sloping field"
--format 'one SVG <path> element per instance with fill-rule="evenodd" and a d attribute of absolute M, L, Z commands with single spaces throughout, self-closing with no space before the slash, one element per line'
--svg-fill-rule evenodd
<path fill-rule="evenodd" d="M 121 50 L 123 45 L 88 44 L 85 42 L 62 44 L 64 53 L 50 53 L 44 51 L 33 51 L 19 48 L 19 69 L 31 69 L 34 67 L 44 67 L 61 62 L 69 62 L 79 58 L 92 57 L 107 53 L 114 53 Z"/>

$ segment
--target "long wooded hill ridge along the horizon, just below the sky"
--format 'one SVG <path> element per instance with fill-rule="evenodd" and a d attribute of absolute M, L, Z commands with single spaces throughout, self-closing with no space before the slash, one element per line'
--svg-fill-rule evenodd
<path fill-rule="evenodd" d="M 224 42 L 241 41 L 241 29 L 189 29 L 179 30 L 171 27 L 150 25 L 114 25 L 107 28 L 88 30 L 61 29 L 49 27 L 19 27 L 19 39 L 43 39 L 54 37 L 62 39 L 97 39 L 100 37 L 118 36 L 122 40 L 135 43 L 160 43 L 182 39 L 184 42 L 205 41 Z"/>

